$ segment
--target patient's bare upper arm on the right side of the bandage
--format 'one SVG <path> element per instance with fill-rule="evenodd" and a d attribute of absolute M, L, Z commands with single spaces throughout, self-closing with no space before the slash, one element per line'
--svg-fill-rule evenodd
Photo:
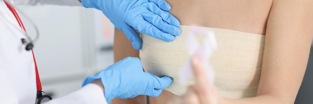
<path fill-rule="evenodd" d="M 258 96 L 294 103 L 313 35 L 312 0 L 274 0 L 267 22 Z"/>

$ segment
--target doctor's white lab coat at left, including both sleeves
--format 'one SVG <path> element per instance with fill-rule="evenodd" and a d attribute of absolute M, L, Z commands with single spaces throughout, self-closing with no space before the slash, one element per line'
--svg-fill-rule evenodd
<path fill-rule="evenodd" d="M 78 0 L 13 0 L 15 4 L 29 3 L 79 6 Z M 12 12 L 0 0 L 0 11 L 16 20 Z M 16 22 L 16 21 L 15 21 Z M 16 22 L 17 23 L 17 22 Z M 21 39 L 27 39 L 0 15 L 0 103 L 34 104 L 36 77 L 31 51 L 25 50 Z M 101 88 L 88 84 L 67 96 L 54 98 L 47 104 L 107 104 Z"/>

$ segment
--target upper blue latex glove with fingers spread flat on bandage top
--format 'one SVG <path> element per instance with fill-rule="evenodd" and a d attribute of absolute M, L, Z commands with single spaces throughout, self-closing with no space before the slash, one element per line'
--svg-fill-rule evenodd
<path fill-rule="evenodd" d="M 82 0 L 84 7 L 101 10 L 106 17 L 123 31 L 136 50 L 142 47 L 138 32 L 166 42 L 181 34 L 180 22 L 169 12 L 165 0 Z M 133 29 L 134 28 L 134 29 Z"/>

